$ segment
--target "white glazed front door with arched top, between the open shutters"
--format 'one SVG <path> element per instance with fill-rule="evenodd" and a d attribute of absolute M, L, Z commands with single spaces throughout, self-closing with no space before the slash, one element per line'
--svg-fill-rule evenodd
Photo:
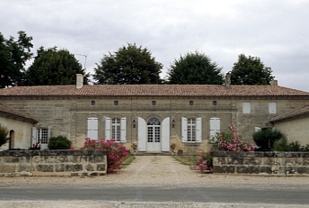
<path fill-rule="evenodd" d="M 161 126 L 156 118 L 147 122 L 147 151 L 161 151 Z"/>

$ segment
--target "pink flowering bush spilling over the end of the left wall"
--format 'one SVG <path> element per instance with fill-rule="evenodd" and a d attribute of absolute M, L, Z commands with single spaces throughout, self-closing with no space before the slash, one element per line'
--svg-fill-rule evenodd
<path fill-rule="evenodd" d="M 115 173 L 116 170 L 119 170 L 122 164 L 121 158 L 126 158 L 128 156 L 126 147 L 115 140 L 92 140 L 86 138 L 84 141 L 84 147 L 81 149 L 108 150 L 108 173 Z"/>

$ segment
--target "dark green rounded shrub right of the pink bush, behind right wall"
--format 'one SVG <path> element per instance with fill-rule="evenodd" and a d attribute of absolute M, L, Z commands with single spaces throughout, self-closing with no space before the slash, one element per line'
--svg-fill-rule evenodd
<path fill-rule="evenodd" d="M 275 141 L 282 138 L 283 134 L 277 130 L 263 129 L 253 133 L 253 140 L 256 145 L 259 146 L 259 150 L 261 151 L 269 151 L 274 149 Z"/>

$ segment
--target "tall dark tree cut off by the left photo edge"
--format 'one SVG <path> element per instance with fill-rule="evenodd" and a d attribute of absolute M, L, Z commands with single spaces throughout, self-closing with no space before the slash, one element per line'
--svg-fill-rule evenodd
<path fill-rule="evenodd" d="M 13 37 L 5 40 L 0 32 L 0 88 L 24 84 L 24 70 L 31 59 L 32 37 L 18 32 L 18 40 Z"/>

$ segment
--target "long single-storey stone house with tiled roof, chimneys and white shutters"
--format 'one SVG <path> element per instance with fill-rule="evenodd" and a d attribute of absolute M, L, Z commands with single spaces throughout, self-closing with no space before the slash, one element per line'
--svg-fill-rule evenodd
<path fill-rule="evenodd" d="M 75 148 L 84 139 L 115 139 L 139 151 L 207 149 L 208 140 L 234 123 L 243 140 L 282 113 L 309 104 L 309 93 L 278 86 L 94 85 L 15 86 L 0 89 L 0 103 L 38 121 L 29 142 L 47 147 L 65 135 Z M 309 143 L 309 142 L 308 142 Z"/>

